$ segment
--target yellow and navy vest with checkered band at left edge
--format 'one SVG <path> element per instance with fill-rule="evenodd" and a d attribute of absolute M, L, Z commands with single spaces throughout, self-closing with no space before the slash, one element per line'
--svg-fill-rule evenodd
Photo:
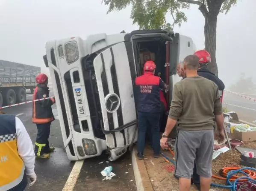
<path fill-rule="evenodd" d="M 15 115 L 0 114 L 0 191 L 15 187 L 24 177 L 16 139 Z"/>

